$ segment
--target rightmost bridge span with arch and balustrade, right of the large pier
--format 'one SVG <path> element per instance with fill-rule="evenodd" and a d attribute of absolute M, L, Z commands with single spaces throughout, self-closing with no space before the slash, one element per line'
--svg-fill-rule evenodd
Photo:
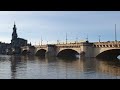
<path fill-rule="evenodd" d="M 120 42 L 94 43 L 94 57 L 115 58 L 120 55 Z"/>

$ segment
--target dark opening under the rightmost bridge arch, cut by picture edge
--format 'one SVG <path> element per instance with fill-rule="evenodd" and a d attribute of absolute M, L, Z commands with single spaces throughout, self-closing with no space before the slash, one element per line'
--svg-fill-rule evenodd
<path fill-rule="evenodd" d="M 97 58 L 115 59 L 120 55 L 120 49 L 109 49 L 96 55 Z"/>

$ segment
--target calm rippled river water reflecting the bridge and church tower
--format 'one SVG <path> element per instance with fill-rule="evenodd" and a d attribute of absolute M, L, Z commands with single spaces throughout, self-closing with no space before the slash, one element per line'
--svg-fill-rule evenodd
<path fill-rule="evenodd" d="M 0 56 L 1 79 L 120 79 L 120 60 Z"/>

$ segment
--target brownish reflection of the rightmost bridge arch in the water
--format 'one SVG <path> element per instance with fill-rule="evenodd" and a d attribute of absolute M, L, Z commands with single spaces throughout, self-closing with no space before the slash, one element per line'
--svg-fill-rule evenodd
<path fill-rule="evenodd" d="M 99 59 L 97 60 L 97 71 L 101 73 L 105 73 L 113 76 L 120 76 L 120 61 L 117 59 L 113 60 L 105 60 Z"/>

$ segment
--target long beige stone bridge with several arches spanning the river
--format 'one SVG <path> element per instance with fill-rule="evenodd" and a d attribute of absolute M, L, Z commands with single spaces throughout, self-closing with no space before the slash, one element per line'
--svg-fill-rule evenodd
<path fill-rule="evenodd" d="M 31 53 L 39 56 L 83 56 L 114 58 L 120 55 L 120 42 L 80 42 L 67 44 L 36 45 L 22 47 L 23 54 Z"/>

